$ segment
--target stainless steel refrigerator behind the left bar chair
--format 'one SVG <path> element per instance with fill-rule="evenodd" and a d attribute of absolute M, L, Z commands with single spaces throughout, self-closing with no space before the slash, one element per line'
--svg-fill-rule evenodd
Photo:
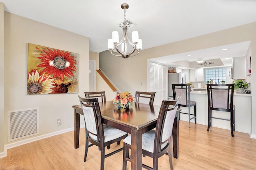
<path fill-rule="evenodd" d="M 173 98 L 172 84 L 185 84 L 186 74 L 179 73 L 168 73 L 168 96 L 170 99 Z"/>

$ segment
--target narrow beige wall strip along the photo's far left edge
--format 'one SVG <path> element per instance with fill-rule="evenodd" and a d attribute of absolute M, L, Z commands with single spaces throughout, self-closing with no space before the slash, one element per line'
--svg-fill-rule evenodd
<path fill-rule="evenodd" d="M 4 151 L 4 4 L 0 2 L 0 155 Z"/>

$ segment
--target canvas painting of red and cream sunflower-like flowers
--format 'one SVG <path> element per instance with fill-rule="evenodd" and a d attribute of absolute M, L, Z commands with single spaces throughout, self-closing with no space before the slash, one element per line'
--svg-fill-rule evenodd
<path fill-rule="evenodd" d="M 27 94 L 78 93 L 77 53 L 28 44 Z"/>

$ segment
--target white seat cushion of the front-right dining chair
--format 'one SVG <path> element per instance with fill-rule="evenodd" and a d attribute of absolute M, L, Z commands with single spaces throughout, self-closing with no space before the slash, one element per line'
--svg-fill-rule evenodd
<path fill-rule="evenodd" d="M 142 134 L 142 149 L 148 152 L 154 152 L 154 140 L 156 131 L 151 130 Z M 124 143 L 131 145 L 131 135 L 124 139 Z M 168 142 L 164 143 L 161 148 L 164 148 Z"/>

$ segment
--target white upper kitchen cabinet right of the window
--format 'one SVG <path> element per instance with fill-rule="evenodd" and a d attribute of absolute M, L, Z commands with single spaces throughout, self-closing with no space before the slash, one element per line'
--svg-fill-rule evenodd
<path fill-rule="evenodd" d="M 246 79 L 245 57 L 233 58 L 233 79 Z"/>

